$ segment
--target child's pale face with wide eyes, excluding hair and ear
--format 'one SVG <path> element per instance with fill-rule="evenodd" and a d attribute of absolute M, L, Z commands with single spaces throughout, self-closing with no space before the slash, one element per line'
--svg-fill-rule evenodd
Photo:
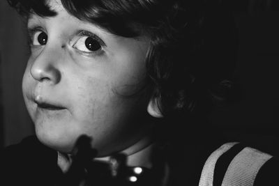
<path fill-rule="evenodd" d="M 69 153 L 80 134 L 100 155 L 140 140 L 148 98 L 144 86 L 147 38 L 114 36 L 69 15 L 50 1 L 54 17 L 32 15 L 31 56 L 24 73 L 24 101 L 38 139 Z"/>

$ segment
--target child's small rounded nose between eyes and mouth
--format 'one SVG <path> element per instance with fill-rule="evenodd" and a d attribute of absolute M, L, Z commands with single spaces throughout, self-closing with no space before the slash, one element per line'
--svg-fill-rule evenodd
<path fill-rule="evenodd" d="M 61 70 L 58 67 L 60 60 L 61 56 L 59 56 L 57 51 L 47 49 L 47 46 L 45 46 L 31 65 L 31 76 L 38 82 L 58 84 L 61 81 Z"/>

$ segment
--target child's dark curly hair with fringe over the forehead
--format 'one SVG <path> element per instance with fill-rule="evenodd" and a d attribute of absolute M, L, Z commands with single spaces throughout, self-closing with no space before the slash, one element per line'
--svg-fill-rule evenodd
<path fill-rule="evenodd" d="M 51 17 L 45 0 L 8 0 L 19 13 Z M 71 15 L 119 36 L 146 34 L 147 78 L 163 116 L 206 113 L 224 100 L 236 60 L 236 29 L 219 1 L 61 0 Z"/>

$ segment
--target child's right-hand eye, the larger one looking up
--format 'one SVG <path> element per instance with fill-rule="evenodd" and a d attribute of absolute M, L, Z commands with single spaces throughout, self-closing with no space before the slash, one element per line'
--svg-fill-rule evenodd
<path fill-rule="evenodd" d="M 85 53 L 99 52 L 103 49 L 104 42 L 93 33 L 82 31 L 73 47 Z"/>

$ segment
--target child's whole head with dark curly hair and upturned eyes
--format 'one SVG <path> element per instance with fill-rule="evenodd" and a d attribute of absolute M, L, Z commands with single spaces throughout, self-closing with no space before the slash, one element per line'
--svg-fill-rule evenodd
<path fill-rule="evenodd" d="M 192 110 L 215 78 L 196 55 L 198 1 L 10 3 L 28 17 L 24 100 L 38 139 L 56 150 L 87 134 L 100 156 L 141 141 L 134 153 L 149 143 L 150 116 Z"/>

